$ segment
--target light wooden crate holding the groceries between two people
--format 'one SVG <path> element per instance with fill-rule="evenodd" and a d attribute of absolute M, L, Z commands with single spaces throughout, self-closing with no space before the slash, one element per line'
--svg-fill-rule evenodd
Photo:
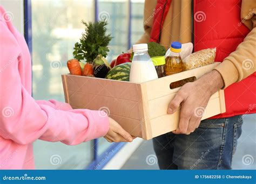
<path fill-rule="evenodd" d="M 176 130 L 177 111 L 167 114 L 169 102 L 180 88 L 170 83 L 210 72 L 218 63 L 165 76 L 145 83 L 132 83 L 65 74 L 62 75 L 65 101 L 75 109 L 108 108 L 115 119 L 132 136 L 151 139 Z M 202 119 L 225 112 L 224 90 L 213 94 Z"/>

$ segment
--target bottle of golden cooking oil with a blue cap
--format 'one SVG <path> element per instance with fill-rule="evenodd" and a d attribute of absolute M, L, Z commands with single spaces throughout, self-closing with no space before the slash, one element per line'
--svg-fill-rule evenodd
<path fill-rule="evenodd" d="M 182 72 L 182 60 L 180 57 L 181 44 L 178 41 L 173 41 L 170 51 L 170 55 L 165 58 L 166 75 Z"/>

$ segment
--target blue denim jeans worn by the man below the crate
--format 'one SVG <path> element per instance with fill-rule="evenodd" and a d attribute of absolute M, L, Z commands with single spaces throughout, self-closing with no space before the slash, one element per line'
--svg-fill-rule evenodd
<path fill-rule="evenodd" d="M 241 116 L 205 119 L 190 135 L 153 138 L 160 169 L 231 169 L 241 125 Z"/>

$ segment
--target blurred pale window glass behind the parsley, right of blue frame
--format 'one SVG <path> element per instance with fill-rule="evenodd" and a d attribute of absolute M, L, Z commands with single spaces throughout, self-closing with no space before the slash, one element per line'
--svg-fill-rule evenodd
<path fill-rule="evenodd" d="M 32 88 L 36 100 L 64 101 L 61 74 L 84 26 L 94 21 L 95 2 L 32 0 Z M 77 146 L 37 140 L 37 169 L 83 169 L 93 160 L 93 141 Z"/>

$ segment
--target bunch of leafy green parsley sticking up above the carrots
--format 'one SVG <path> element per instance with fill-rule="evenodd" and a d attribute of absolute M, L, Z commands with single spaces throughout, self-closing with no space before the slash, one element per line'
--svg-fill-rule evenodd
<path fill-rule="evenodd" d="M 85 32 L 82 33 L 80 42 L 75 44 L 73 56 L 77 60 L 86 60 L 86 62 L 92 62 L 97 55 L 102 54 L 104 57 L 109 52 L 110 40 L 112 37 L 110 34 L 106 34 L 105 20 L 95 23 L 85 23 Z"/>

